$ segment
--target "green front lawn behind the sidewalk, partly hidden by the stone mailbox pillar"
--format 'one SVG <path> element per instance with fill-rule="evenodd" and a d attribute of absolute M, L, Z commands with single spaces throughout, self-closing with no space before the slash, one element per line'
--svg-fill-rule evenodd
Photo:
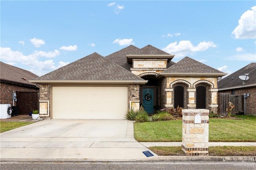
<path fill-rule="evenodd" d="M 209 142 L 256 142 L 256 116 L 240 119 L 210 119 Z M 182 120 L 134 123 L 139 142 L 181 142 Z"/>

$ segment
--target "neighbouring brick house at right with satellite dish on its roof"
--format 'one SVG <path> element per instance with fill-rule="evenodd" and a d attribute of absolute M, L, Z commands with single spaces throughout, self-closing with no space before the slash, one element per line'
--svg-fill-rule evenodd
<path fill-rule="evenodd" d="M 249 79 L 246 78 L 247 80 L 244 81 L 239 78 L 241 75 L 244 78 L 247 75 Z M 249 97 L 246 98 L 246 114 L 256 114 L 256 63 L 250 63 L 227 77 L 224 77 L 222 80 L 218 81 L 218 88 L 219 94 L 249 94 Z M 244 105 L 244 100 L 242 100 L 241 103 Z"/>

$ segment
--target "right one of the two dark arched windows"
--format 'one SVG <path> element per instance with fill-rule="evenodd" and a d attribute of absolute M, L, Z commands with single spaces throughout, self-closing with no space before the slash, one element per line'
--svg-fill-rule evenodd
<path fill-rule="evenodd" d="M 206 109 L 206 87 L 196 87 L 196 109 Z"/>

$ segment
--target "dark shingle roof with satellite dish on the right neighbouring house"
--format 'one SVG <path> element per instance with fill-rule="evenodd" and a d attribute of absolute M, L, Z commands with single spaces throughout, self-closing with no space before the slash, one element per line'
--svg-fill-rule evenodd
<path fill-rule="evenodd" d="M 240 75 L 248 74 L 249 79 L 244 81 L 239 78 Z M 218 81 L 219 90 L 237 89 L 242 87 L 256 86 L 256 63 L 250 63 L 238 71 L 224 77 Z"/>

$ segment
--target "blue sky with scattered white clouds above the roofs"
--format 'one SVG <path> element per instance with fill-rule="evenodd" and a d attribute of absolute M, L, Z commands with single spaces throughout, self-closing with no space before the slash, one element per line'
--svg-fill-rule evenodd
<path fill-rule="evenodd" d="M 1 1 L 4 63 L 44 75 L 93 52 L 153 45 L 225 73 L 256 62 L 255 1 Z"/>

